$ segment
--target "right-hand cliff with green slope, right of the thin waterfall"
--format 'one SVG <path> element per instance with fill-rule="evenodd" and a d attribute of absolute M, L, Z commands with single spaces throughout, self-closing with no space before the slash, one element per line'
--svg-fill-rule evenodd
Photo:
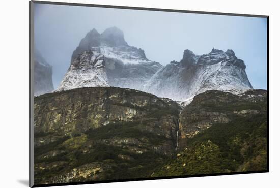
<path fill-rule="evenodd" d="M 267 170 L 267 92 L 210 90 L 180 114 L 176 157 L 152 177 Z"/>

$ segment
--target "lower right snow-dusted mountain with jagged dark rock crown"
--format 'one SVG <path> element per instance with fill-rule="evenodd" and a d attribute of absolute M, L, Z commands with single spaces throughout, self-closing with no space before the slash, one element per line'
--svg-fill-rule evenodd
<path fill-rule="evenodd" d="M 185 50 L 180 62 L 172 61 L 145 85 L 145 91 L 159 97 L 185 101 L 207 90 L 233 93 L 252 89 L 243 60 L 232 50 L 212 49 L 198 56 Z"/>

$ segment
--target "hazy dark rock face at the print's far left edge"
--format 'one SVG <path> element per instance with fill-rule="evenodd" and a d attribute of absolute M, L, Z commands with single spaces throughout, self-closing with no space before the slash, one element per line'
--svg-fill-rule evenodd
<path fill-rule="evenodd" d="M 52 67 L 36 49 L 34 63 L 34 95 L 39 96 L 44 93 L 52 92 Z"/>

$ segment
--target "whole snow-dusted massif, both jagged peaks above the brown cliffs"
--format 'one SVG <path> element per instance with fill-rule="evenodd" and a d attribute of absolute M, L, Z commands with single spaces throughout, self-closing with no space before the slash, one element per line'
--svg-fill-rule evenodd
<path fill-rule="evenodd" d="M 88 60 L 77 58 L 85 51 L 91 52 Z M 89 65 L 95 63 L 97 56 L 103 59 L 99 68 L 102 74 L 85 76 L 83 72 L 86 69 L 95 69 Z M 73 64 L 75 69 L 72 69 Z M 110 27 L 101 34 L 92 29 L 73 52 L 70 68 L 57 91 L 115 86 L 186 101 L 212 89 L 232 93 L 253 89 L 245 69 L 244 61 L 237 58 L 233 50 L 224 52 L 215 48 L 203 55 L 195 55 L 186 49 L 179 62 L 172 61 L 162 66 L 147 59 L 143 49 L 129 46 L 121 29 Z"/>

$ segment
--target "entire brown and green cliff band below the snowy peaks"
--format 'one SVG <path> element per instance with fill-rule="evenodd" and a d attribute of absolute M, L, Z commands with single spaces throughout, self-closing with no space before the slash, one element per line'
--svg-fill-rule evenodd
<path fill-rule="evenodd" d="M 35 98 L 35 182 L 266 170 L 267 93 L 210 90 L 184 109 L 116 87 Z"/>

